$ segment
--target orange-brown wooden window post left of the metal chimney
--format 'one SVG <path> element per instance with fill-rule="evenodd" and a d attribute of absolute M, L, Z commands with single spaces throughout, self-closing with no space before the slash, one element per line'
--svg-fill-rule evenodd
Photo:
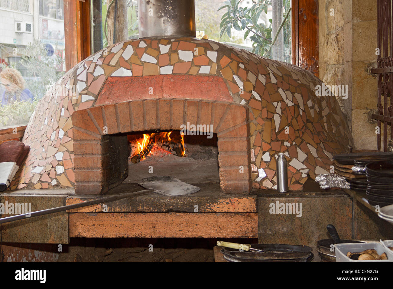
<path fill-rule="evenodd" d="M 64 0 L 66 70 L 91 54 L 90 1 Z"/>

